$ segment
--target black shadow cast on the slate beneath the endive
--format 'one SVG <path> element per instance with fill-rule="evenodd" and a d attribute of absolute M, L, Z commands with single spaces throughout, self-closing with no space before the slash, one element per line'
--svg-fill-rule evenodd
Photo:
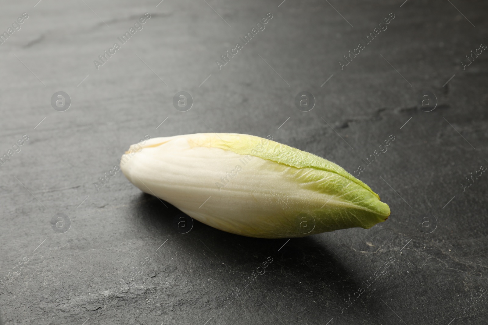
<path fill-rule="evenodd" d="M 361 295 L 346 312 L 341 310 L 347 307 L 346 300 L 352 301 L 350 297 L 359 287 L 365 288 L 365 283 L 332 250 L 332 245 L 322 240 L 321 235 L 291 238 L 288 242 L 288 238 L 252 238 L 221 231 L 197 220 L 193 220 L 190 231 L 182 233 L 187 230 L 176 225 L 184 214 L 170 203 L 142 193 L 131 205 L 135 227 L 156 236 L 158 242 L 167 238 L 176 241 L 178 256 L 191 256 L 193 263 L 195 259 L 200 261 L 197 268 L 217 277 L 223 287 L 242 290 L 246 287 L 244 281 L 252 277 L 252 272 L 261 267 L 267 257 L 271 257 L 273 262 L 266 269 L 266 276 L 259 278 L 259 286 L 246 289 L 251 294 L 246 297 L 245 304 L 264 304 L 273 310 L 286 309 L 287 312 L 305 308 L 308 315 L 315 315 L 308 320 L 312 323 L 317 321 L 317 315 L 352 320 L 364 316 L 365 312 L 374 317 L 386 310 L 370 292 Z M 209 259 L 213 265 L 211 269 L 208 268 Z M 298 299 L 272 298 L 290 292 Z M 214 293 L 217 312 L 226 294 Z"/>

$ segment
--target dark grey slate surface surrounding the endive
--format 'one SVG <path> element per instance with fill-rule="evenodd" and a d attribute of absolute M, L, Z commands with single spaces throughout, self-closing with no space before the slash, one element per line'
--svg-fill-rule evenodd
<path fill-rule="evenodd" d="M 461 63 L 488 44 L 486 2 L 36 2 L 0 5 L 1 32 L 29 15 L 0 45 L 0 154 L 29 137 L 0 167 L 6 324 L 486 322 L 488 175 L 463 184 L 488 166 L 488 53 Z M 146 12 L 97 70 L 93 61 Z M 265 30 L 219 70 L 215 61 L 268 12 Z M 58 91 L 72 100 L 64 112 L 51 107 Z M 194 100 L 186 112 L 173 107 L 180 91 Z M 309 112 L 294 104 L 302 91 L 315 97 Z M 423 106 L 428 92 L 437 99 Z M 179 233 L 180 212 L 121 172 L 96 191 L 145 134 L 206 132 L 271 134 L 351 173 L 393 134 L 358 177 L 392 213 L 372 229 L 287 242 L 199 222 Z M 54 231 L 57 213 L 69 231 Z"/>

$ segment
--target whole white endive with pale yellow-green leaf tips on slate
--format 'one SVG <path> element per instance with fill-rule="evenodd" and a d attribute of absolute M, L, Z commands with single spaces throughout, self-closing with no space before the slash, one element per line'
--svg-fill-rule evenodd
<path fill-rule="evenodd" d="M 125 177 L 206 225 L 262 238 L 371 228 L 387 204 L 340 166 L 247 134 L 159 137 L 122 155 Z"/>

